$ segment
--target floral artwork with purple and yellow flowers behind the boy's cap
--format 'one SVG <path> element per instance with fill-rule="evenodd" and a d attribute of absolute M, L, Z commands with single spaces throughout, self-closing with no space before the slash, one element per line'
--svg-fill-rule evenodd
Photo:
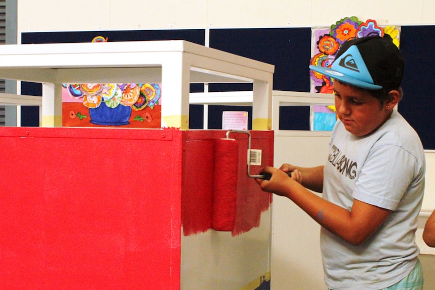
<path fill-rule="evenodd" d="M 360 21 L 357 17 L 345 17 L 331 27 L 312 29 L 312 51 L 310 65 L 331 67 L 337 51 L 350 38 L 368 35 L 384 36 L 388 34 L 399 47 L 400 26 L 379 26 L 373 19 Z M 315 93 L 333 93 L 330 77 L 310 71 L 311 88 Z M 328 116 L 329 114 L 329 116 Z M 336 120 L 335 106 L 313 106 L 311 108 L 310 129 L 313 131 L 331 131 Z"/>

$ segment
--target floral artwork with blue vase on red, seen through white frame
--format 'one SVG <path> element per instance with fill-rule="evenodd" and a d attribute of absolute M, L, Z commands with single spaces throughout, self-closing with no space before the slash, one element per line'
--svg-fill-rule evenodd
<path fill-rule="evenodd" d="M 161 83 L 63 84 L 62 126 L 160 128 Z"/>

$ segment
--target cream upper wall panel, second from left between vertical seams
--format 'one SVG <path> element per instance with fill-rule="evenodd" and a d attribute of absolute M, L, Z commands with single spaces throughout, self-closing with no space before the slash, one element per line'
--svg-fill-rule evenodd
<path fill-rule="evenodd" d="M 190 29 L 204 28 L 207 2 L 204 0 L 113 0 L 111 28 Z"/>

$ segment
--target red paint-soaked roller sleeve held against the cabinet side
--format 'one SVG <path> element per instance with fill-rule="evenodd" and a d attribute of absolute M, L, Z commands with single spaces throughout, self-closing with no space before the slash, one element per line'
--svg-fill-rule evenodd
<path fill-rule="evenodd" d="M 239 143 L 234 139 L 216 140 L 211 227 L 232 231 L 236 220 Z"/>

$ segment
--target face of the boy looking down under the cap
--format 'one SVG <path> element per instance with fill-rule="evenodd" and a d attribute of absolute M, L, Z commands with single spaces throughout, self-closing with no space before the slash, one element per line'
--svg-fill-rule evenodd
<path fill-rule="evenodd" d="M 387 105 L 368 92 L 338 81 L 334 82 L 337 116 L 346 130 L 355 136 L 365 136 L 387 121 L 392 112 Z"/>

